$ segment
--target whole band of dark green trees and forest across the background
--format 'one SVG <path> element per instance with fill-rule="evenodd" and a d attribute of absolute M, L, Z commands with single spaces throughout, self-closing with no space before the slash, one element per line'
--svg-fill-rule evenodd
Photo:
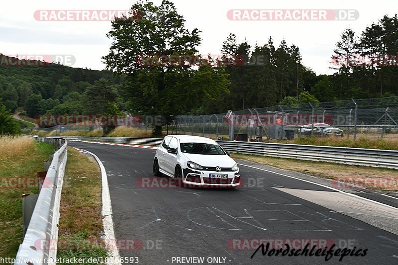
<path fill-rule="evenodd" d="M 237 65 L 140 65 L 137 58 L 142 55 L 197 54 L 201 37 L 199 29 L 185 29 L 184 18 L 171 2 L 159 6 L 137 3 L 132 8 L 142 12 L 142 19 L 116 19 L 107 34 L 113 41 L 109 54 L 102 58 L 107 70 L 0 64 L 0 98 L 5 109 L 23 109 L 31 117 L 161 113 L 170 121 L 179 114 L 398 94 L 398 59 L 394 57 L 398 54 L 397 14 L 384 16 L 363 32 L 342 29 L 341 39 L 330 51 L 335 74 L 316 75 L 302 64 L 299 47 L 288 44 L 294 41 L 287 41 L 289 36 L 279 44 L 269 37 L 265 44 L 251 47 L 225 33 L 220 50 L 225 57 L 240 58 Z M 175 32 L 179 33 L 173 35 Z M 138 37 L 147 35 L 150 38 Z M 120 49 L 124 49 L 123 55 L 115 53 Z M 251 63 L 259 57 L 265 58 L 264 63 Z M 8 60 L 0 54 L 0 62 L 4 59 Z"/>

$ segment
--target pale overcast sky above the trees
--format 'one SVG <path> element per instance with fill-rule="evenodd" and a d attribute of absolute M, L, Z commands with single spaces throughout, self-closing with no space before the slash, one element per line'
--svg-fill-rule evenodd
<path fill-rule="evenodd" d="M 331 74 L 330 56 L 341 32 L 351 27 L 361 33 L 384 14 L 398 12 L 397 0 L 172 0 L 189 29 L 199 28 L 203 38 L 201 54 L 219 54 L 229 32 L 240 43 L 263 45 L 272 36 L 276 46 L 282 39 L 300 49 L 302 62 L 317 74 Z M 1 3 L 0 53 L 6 55 L 73 55 L 74 67 L 104 69 L 100 57 L 108 53 L 105 34 L 109 21 L 37 21 L 36 10 L 129 9 L 134 0 L 13 0 Z M 160 3 L 161 0 L 153 0 Z M 356 9 L 356 20 L 329 21 L 233 21 L 230 9 Z"/>

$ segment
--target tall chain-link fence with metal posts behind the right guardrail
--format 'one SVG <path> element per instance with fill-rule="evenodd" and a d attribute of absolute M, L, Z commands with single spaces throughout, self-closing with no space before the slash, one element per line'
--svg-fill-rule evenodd
<path fill-rule="evenodd" d="M 241 141 L 334 135 L 398 139 L 398 96 L 176 116 L 172 134 Z"/>

